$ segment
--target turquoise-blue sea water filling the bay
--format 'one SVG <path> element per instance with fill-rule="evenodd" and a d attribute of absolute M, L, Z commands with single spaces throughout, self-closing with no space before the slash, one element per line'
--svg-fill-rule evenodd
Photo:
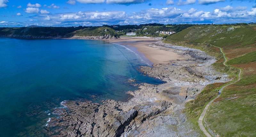
<path fill-rule="evenodd" d="M 160 84 L 136 70 L 147 65 L 123 46 L 97 40 L 0 38 L 0 134 L 44 136 L 63 100 L 125 100 L 128 83 Z"/>

